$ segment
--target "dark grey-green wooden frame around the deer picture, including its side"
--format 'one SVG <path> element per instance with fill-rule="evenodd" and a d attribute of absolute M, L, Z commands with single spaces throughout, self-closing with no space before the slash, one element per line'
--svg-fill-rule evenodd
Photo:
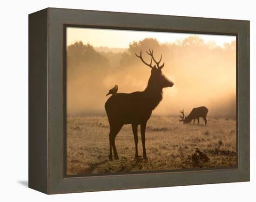
<path fill-rule="evenodd" d="M 64 29 L 236 35 L 237 166 L 67 177 Z M 64 53 L 64 54 L 63 54 Z M 249 181 L 249 21 L 47 8 L 29 14 L 29 187 L 46 194 Z"/>

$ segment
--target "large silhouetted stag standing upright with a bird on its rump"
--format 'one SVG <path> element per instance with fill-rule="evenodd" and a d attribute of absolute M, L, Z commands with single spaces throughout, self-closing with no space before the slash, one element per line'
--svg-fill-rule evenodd
<path fill-rule="evenodd" d="M 147 52 L 147 51 L 146 51 Z M 147 121 L 151 116 L 152 110 L 156 108 L 162 101 L 162 88 L 172 87 L 173 82 L 168 80 L 162 74 L 164 63 L 159 66 L 160 60 L 157 62 L 153 56 L 153 50 L 147 52 L 151 56 L 151 62 L 148 64 L 142 59 L 141 54 L 137 55 L 141 61 L 151 68 L 151 75 L 148 80 L 148 86 L 144 91 L 137 91 L 130 94 L 116 93 L 113 94 L 105 103 L 105 109 L 108 115 L 110 125 L 109 132 L 109 160 L 112 161 L 112 148 L 115 159 L 118 159 L 115 137 L 124 124 L 131 124 L 135 141 L 135 160 L 138 159 L 138 125 L 141 125 L 141 141 L 143 147 L 143 159 L 147 159 L 145 147 L 145 130 Z M 152 66 L 152 60 L 156 66 Z"/>

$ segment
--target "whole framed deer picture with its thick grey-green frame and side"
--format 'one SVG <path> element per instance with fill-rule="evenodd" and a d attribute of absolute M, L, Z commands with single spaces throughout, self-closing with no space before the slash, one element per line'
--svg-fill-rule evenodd
<path fill-rule="evenodd" d="M 249 181 L 249 21 L 29 14 L 29 187 Z"/>

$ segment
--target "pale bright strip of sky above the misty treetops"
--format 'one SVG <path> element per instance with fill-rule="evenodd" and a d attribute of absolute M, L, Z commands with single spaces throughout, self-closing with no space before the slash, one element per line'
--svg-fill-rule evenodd
<path fill-rule="evenodd" d="M 175 40 L 184 39 L 189 35 L 200 35 L 206 43 L 209 41 L 215 41 L 219 46 L 223 46 L 224 42 L 230 43 L 231 41 L 236 40 L 236 36 L 213 34 L 183 34 L 67 27 L 67 45 L 81 40 L 83 43 L 90 43 L 94 47 L 128 48 L 129 43 L 134 40 L 139 41 L 144 38 L 155 38 L 160 43 L 172 43 L 175 42 Z"/>

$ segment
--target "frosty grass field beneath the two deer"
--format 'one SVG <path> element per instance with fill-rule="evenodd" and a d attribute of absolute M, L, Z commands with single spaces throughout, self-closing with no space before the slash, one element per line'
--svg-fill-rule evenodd
<path fill-rule="evenodd" d="M 132 127 L 124 125 L 115 139 L 119 160 L 111 162 L 108 118 L 68 116 L 67 175 L 236 166 L 236 121 L 209 117 L 207 126 L 200 121 L 183 125 L 178 117 L 152 116 L 146 128 L 147 161 L 134 160 Z"/>

